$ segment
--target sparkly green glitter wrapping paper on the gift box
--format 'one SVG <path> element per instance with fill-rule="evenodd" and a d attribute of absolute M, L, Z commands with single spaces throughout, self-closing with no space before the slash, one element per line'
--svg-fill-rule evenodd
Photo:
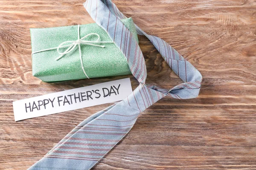
<path fill-rule="evenodd" d="M 131 18 L 122 22 L 138 41 L 136 28 Z M 80 25 L 80 38 L 90 33 L 97 33 L 100 41 L 112 41 L 108 34 L 96 23 Z M 78 39 L 78 26 L 55 28 L 30 28 L 32 52 L 58 47 L 64 41 Z M 91 35 L 85 40 L 96 40 Z M 114 43 L 97 43 L 105 48 L 81 44 L 81 56 L 84 70 L 89 78 L 131 74 L 122 51 Z M 65 50 L 66 48 L 64 48 Z M 61 51 L 64 51 L 61 50 Z M 81 68 L 79 47 L 61 59 L 57 49 L 42 51 L 32 55 L 32 74 L 44 82 L 59 82 L 87 78 Z"/>

